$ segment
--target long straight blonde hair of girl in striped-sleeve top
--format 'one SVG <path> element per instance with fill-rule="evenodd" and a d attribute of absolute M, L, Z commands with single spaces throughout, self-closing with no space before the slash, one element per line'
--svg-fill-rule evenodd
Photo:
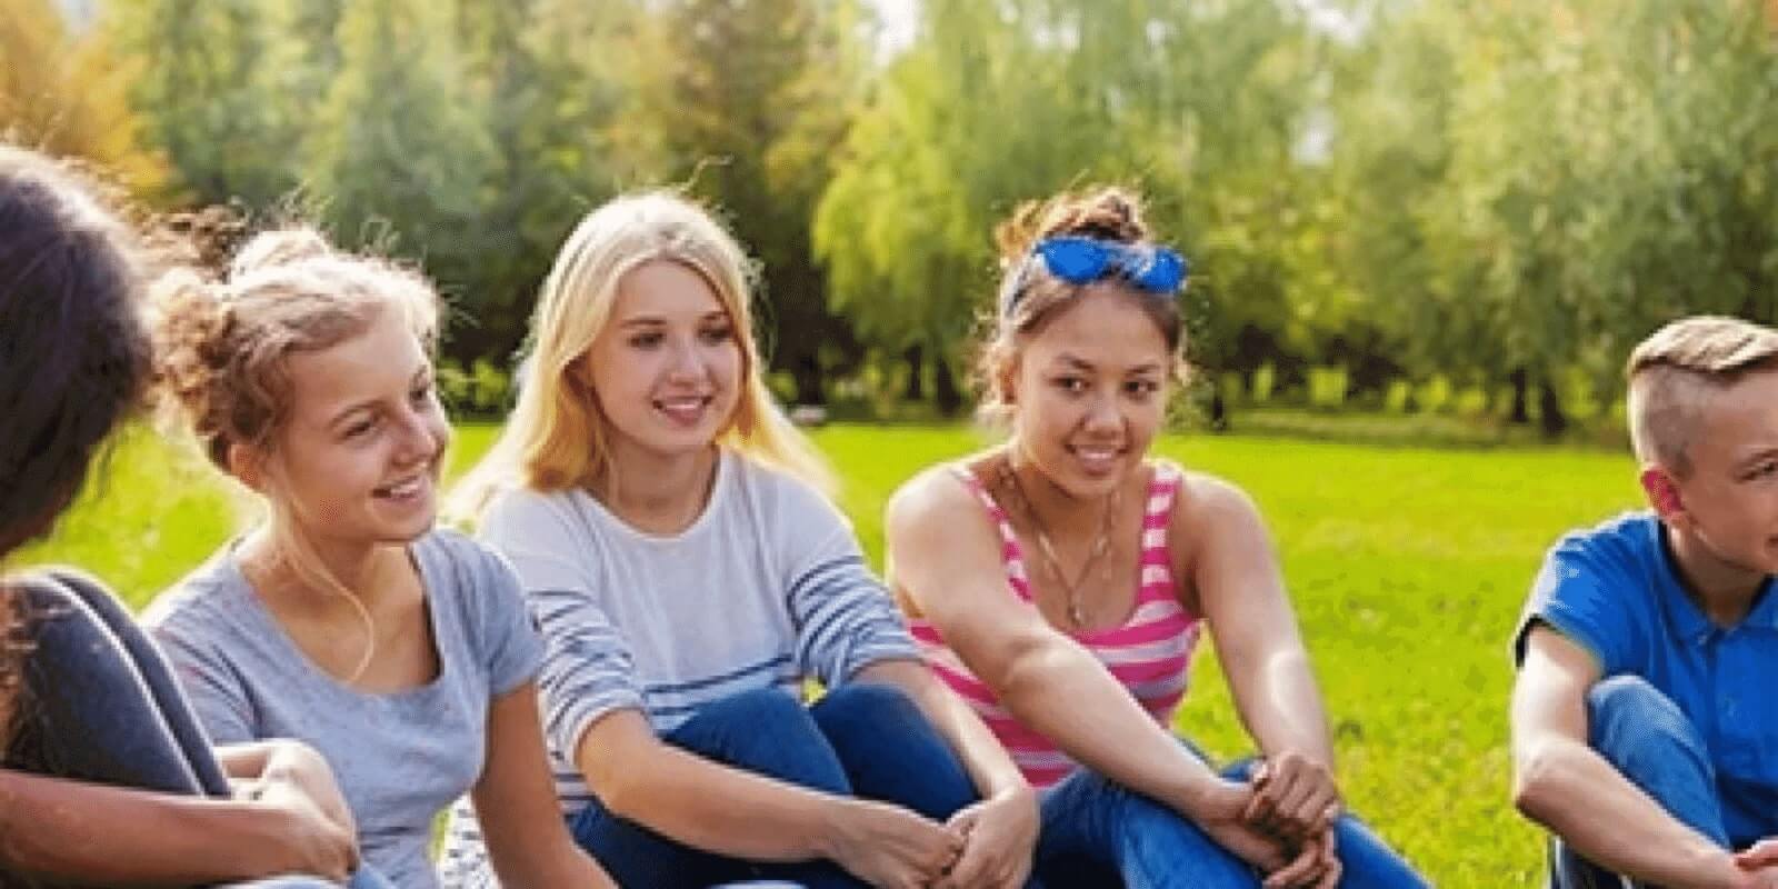
<path fill-rule="evenodd" d="M 587 213 L 562 245 L 532 316 L 519 402 L 494 446 L 448 498 L 448 516 L 473 523 L 496 493 L 510 487 L 564 491 L 615 477 L 610 420 L 574 366 L 612 320 L 624 276 L 656 260 L 697 272 L 738 331 L 743 384 L 717 441 L 834 493 L 827 461 L 766 389 L 752 336 L 752 261 L 708 210 L 685 196 L 653 190 L 615 197 Z"/>

